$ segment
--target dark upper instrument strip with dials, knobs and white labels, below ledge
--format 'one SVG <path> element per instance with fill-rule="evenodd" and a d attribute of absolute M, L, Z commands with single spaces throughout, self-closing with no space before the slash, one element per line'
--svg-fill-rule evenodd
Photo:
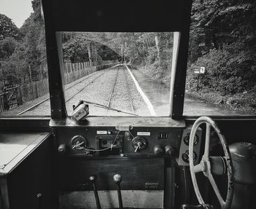
<path fill-rule="evenodd" d="M 177 157 L 181 128 L 77 127 L 57 130 L 59 154 L 100 157 Z"/>

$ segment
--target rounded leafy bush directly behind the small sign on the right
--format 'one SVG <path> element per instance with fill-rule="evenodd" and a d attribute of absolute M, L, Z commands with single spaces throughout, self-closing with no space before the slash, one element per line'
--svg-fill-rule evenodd
<path fill-rule="evenodd" d="M 188 68 L 187 88 L 195 90 L 197 83 L 193 66 L 205 66 L 206 74 L 200 76 L 201 87 L 223 94 L 255 89 L 256 55 L 253 51 L 253 48 L 249 50 L 236 43 L 224 45 L 219 50 L 210 50 Z"/>

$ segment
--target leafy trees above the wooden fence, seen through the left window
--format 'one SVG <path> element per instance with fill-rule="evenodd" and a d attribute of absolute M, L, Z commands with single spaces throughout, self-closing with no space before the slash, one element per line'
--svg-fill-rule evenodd
<path fill-rule="evenodd" d="M 3 28 L 7 27 L 0 21 L 0 36 L 4 37 L 0 41 L 1 86 L 37 81 L 47 76 L 45 31 L 38 9 L 39 0 L 32 1 L 32 5 L 34 12 L 21 28 L 9 21 L 10 29 L 3 33 Z"/>

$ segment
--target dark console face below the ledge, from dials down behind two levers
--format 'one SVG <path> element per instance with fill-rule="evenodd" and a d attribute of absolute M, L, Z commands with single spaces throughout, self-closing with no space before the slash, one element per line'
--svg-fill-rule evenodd
<path fill-rule="evenodd" d="M 165 171 L 178 157 L 182 127 L 58 127 L 59 189 L 90 191 L 89 176 L 97 176 L 98 190 L 165 188 Z M 167 158 L 167 160 L 165 160 Z M 169 158 L 169 159 L 168 159 Z M 111 183 L 112 182 L 112 183 Z M 132 182 L 132 184 L 131 184 Z"/>

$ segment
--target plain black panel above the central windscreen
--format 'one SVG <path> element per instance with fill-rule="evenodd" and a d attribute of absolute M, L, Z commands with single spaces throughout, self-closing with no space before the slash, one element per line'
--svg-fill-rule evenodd
<path fill-rule="evenodd" d="M 56 31 L 182 31 L 189 0 L 42 0 Z"/>

